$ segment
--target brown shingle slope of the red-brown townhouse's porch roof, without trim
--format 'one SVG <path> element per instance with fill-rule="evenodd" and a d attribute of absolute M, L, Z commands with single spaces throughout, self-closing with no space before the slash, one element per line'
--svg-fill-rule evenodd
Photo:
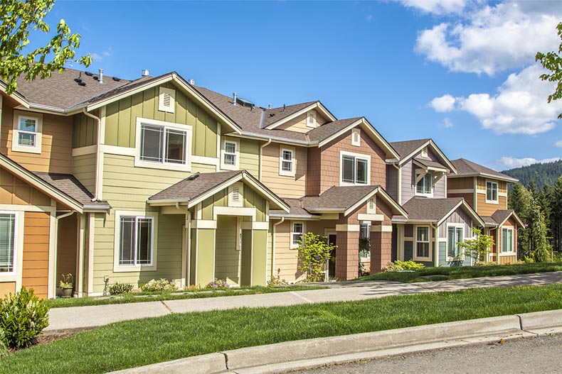
<path fill-rule="evenodd" d="M 378 187 L 380 186 L 330 187 L 319 196 L 302 197 L 302 207 L 304 209 L 348 209 Z"/>

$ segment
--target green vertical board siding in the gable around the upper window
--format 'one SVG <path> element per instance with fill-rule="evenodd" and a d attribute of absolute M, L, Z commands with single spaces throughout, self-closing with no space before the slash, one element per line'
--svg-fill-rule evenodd
<path fill-rule="evenodd" d="M 216 158 L 218 123 L 201 106 L 186 97 L 171 83 L 161 87 L 176 90 L 174 113 L 158 110 L 159 87 L 145 89 L 130 97 L 107 104 L 105 112 L 105 144 L 134 148 L 137 118 L 156 119 L 192 126 L 193 155 Z"/>

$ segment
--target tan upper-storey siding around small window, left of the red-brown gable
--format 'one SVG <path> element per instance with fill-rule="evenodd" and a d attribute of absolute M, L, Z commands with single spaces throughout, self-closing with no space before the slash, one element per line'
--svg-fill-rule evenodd
<path fill-rule="evenodd" d="M 280 197 L 303 197 L 307 183 L 307 148 L 295 150 L 295 176 L 279 175 L 280 149 L 285 145 L 271 143 L 262 150 L 262 182 Z"/>

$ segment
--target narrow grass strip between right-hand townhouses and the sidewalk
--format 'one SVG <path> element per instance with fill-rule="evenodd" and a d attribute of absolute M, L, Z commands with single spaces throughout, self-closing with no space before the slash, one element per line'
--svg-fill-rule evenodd
<path fill-rule="evenodd" d="M 423 268 L 413 273 L 376 273 L 360 277 L 359 280 L 393 280 L 397 282 L 428 282 L 432 280 L 498 277 L 531 273 L 562 271 L 562 263 L 526 263 L 516 265 L 454 266 L 451 268 Z"/>

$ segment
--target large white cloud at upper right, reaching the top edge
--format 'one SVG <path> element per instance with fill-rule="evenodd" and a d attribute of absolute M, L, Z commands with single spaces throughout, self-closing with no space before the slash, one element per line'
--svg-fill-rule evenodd
<path fill-rule="evenodd" d="M 423 0 L 402 2 L 406 6 L 425 3 Z M 426 8 L 437 3 L 449 4 L 432 0 Z M 423 9 L 421 5 L 418 7 Z M 562 16 L 562 7 L 557 1 L 537 1 L 536 4 L 511 1 L 465 13 L 465 18 L 456 22 L 440 23 L 421 31 L 415 50 L 450 71 L 494 75 L 498 71 L 529 65 L 537 51 L 556 50 L 560 43 L 556 25 Z"/>

